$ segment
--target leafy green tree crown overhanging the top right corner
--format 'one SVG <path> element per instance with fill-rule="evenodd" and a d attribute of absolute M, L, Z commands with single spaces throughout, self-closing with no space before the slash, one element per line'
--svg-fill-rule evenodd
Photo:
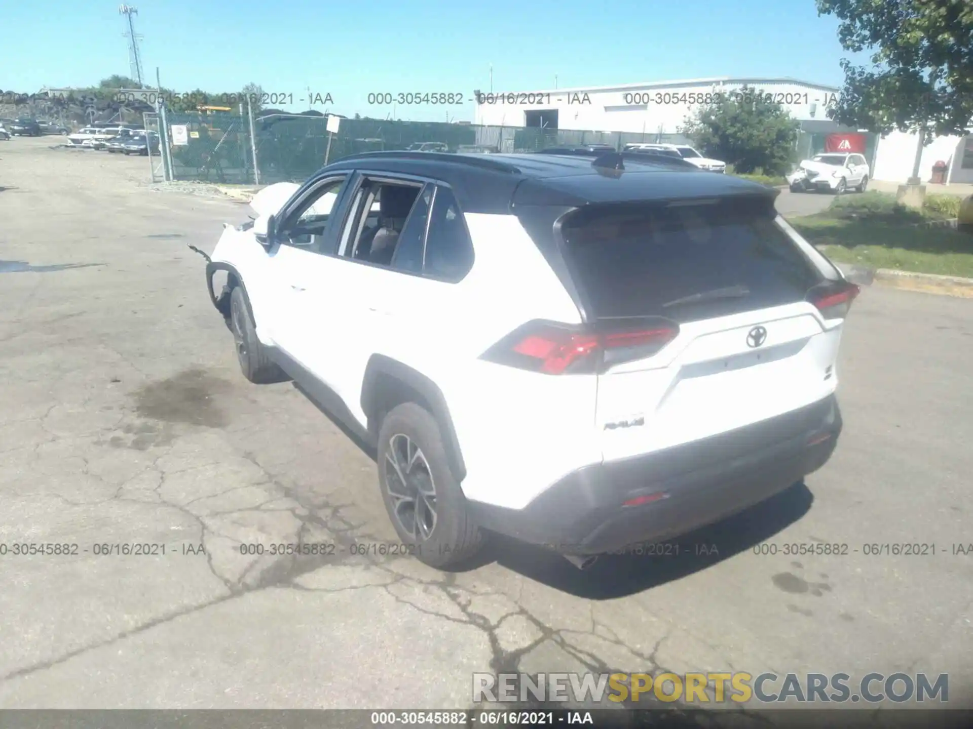
<path fill-rule="evenodd" d="M 973 2 L 970 0 L 816 0 L 841 20 L 850 52 L 873 51 L 872 66 L 842 59 L 845 86 L 828 111 L 841 123 L 886 134 L 968 133 L 973 120 Z"/>

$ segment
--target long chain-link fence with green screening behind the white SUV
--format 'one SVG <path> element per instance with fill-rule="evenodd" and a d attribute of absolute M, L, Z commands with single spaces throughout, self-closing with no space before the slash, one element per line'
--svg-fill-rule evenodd
<path fill-rule="evenodd" d="M 242 115 L 170 112 L 166 121 L 173 179 L 211 183 L 301 182 L 323 167 L 326 160 L 333 162 L 362 152 L 408 150 L 423 145 L 437 151 L 464 152 L 479 148 L 483 152 L 509 154 L 588 144 L 610 145 L 621 150 L 634 142 L 688 142 L 681 134 L 374 119 L 342 119 L 338 133 L 331 135 L 325 117 L 273 114 L 257 116 L 251 121 L 245 111 Z"/>

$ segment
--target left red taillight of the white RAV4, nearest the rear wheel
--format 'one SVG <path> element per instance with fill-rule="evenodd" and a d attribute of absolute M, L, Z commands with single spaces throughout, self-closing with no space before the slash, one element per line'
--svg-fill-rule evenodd
<path fill-rule="evenodd" d="M 611 364 L 650 357 L 666 346 L 679 327 L 593 331 L 532 322 L 490 347 L 483 359 L 546 374 L 595 373 Z"/>

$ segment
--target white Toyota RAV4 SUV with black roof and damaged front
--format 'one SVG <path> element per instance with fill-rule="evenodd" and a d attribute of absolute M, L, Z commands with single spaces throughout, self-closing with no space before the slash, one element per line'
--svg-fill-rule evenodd
<path fill-rule="evenodd" d="M 264 191 L 206 282 L 245 377 L 376 446 L 421 560 L 494 532 L 583 568 L 835 448 L 858 290 L 776 194 L 638 153 L 351 156 Z"/>

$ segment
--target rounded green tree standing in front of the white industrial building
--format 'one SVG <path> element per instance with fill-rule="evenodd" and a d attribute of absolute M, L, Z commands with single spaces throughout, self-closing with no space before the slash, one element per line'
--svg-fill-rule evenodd
<path fill-rule="evenodd" d="M 703 154 L 723 159 L 737 172 L 762 169 L 777 175 L 793 161 L 799 129 L 780 104 L 743 87 L 701 107 L 681 131 Z"/>

